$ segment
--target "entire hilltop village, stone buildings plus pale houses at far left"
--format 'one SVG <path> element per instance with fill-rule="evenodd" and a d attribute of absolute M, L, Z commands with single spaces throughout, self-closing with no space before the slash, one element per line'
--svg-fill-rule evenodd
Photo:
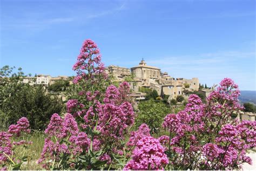
<path fill-rule="evenodd" d="M 116 65 L 110 65 L 105 68 L 105 71 L 109 76 L 112 76 L 114 81 L 121 83 L 125 81 L 127 77 L 132 78 L 129 81 L 131 86 L 131 95 L 135 100 L 145 99 L 146 93 L 140 91 L 140 88 L 150 88 L 156 90 L 160 97 L 168 95 L 169 99 L 176 99 L 178 95 L 184 95 L 184 90 L 198 91 L 199 79 L 185 79 L 185 78 L 173 78 L 169 76 L 167 72 L 161 72 L 158 67 L 149 66 L 145 60 L 141 60 L 139 65 L 131 67 L 120 67 Z M 25 77 L 23 83 L 29 83 L 30 85 L 43 85 L 49 87 L 56 83 L 58 80 L 67 80 L 69 84 L 72 84 L 72 79 L 67 76 L 51 77 L 49 75 L 39 74 L 35 77 Z M 210 90 L 203 88 L 200 91 L 203 93 L 210 92 Z"/>

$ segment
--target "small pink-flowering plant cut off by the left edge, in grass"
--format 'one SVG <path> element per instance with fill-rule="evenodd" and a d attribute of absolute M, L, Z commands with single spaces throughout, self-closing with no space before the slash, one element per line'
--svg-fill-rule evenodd
<path fill-rule="evenodd" d="M 3 170 L 21 168 L 22 163 L 28 160 L 26 153 L 22 155 L 15 152 L 18 146 L 28 149 L 31 141 L 25 140 L 24 136 L 30 133 L 29 121 L 21 118 L 17 124 L 10 125 L 8 132 L 0 132 L 0 167 Z"/>

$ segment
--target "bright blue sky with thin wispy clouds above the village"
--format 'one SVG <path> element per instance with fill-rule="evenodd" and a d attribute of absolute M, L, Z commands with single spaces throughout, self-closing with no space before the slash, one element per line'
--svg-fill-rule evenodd
<path fill-rule="evenodd" d="M 0 3 L 0 67 L 72 76 L 90 38 L 106 66 L 144 58 L 174 78 L 211 86 L 229 77 L 241 90 L 256 90 L 254 0 Z"/>

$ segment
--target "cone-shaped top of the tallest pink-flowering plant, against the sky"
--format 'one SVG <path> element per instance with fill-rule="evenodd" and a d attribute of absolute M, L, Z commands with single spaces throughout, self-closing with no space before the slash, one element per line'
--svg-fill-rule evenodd
<path fill-rule="evenodd" d="M 84 41 L 76 63 L 73 65 L 76 76 L 66 91 L 68 98 L 78 100 L 85 107 L 90 107 L 93 98 L 102 102 L 106 87 L 110 85 L 101 54 L 95 42 L 90 39 Z M 88 100 L 89 99 L 89 100 Z"/>

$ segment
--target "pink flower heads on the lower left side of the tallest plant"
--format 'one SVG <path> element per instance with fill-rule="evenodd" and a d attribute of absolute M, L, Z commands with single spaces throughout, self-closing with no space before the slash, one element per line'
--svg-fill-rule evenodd
<path fill-rule="evenodd" d="M 45 134 L 48 137 L 45 139 L 43 152 L 38 160 L 38 163 L 45 162 L 44 168 L 49 168 L 49 163 L 46 160 L 58 161 L 60 154 L 76 154 L 89 146 L 86 133 L 79 132 L 77 122 L 70 113 L 66 114 L 64 119 L 60 118 L 57 113 L 53 114 L 45 129 Z M 63 141 L 67 138 L 70 141 Z"/>

